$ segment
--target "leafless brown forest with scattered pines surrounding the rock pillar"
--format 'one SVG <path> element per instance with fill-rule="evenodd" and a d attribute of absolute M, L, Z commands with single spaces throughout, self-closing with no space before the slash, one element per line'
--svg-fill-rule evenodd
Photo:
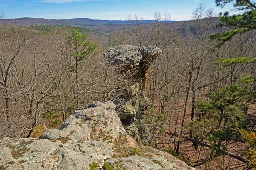
<path fill-rule="evenodd" d="M 103 53 L 125 44 L 156 46 L 162 54 L 140 94 L 150 103 L 137 125 L 149 134 L 141 143 L 198 170 L 256 167 L 256 6 L 252 0 L 234 3 L 242 14 L 217 18 L 200 4 L 191 21 L 170 23 L 160 13 L 151 23 L 131 17 L 127 29 L 108 36 L 76 26 L 2 22 L 0 139 L 39 137 L 90 102 L 132 105 L 125 95 L 143 82 L 136 79 L 139 66 L 120 74 L 124 66 Z"/>

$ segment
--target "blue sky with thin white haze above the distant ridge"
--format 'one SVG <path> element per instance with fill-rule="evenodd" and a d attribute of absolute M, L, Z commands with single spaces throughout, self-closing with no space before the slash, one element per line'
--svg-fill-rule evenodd
<path fill-rule="evenodd" d="M 127 16 L 154 18 L 154 12 L 169 13 L 171 20 L 190 20 L 199 3 L 217 13 L 232 7 L 215 7 L 215 0 L 0 0 L 6 18 L 34 17 L 46 19 L 91 18 L 127 20 Z"/>

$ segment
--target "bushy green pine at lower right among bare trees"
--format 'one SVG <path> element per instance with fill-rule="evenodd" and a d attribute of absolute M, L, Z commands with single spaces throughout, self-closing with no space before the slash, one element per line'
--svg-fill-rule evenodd
<path fill-rule="evenodd" d="M 250 92 L 237 85 L 220 88 L 206 96 L 196 104 L 196 120 L 190 122 L 193 139 L 203 141 L 207 139 L 217 148 L 215 156 L 223 154 L 230 139 L 236 134 L 235 127 L 246 127 L 246 119 L 241 108 Z M 211 157 L 213 151 L 211 153 Z"/>

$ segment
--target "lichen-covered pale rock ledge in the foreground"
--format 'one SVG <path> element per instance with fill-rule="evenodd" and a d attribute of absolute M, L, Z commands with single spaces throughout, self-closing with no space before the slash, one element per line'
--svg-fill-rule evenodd
<path fill-rule="evenodd" d="M 76 111 L 40 139 L 0 140 L 0 170 L 195 170 L 169 153 L 138 144 L 113 102 Z"/>

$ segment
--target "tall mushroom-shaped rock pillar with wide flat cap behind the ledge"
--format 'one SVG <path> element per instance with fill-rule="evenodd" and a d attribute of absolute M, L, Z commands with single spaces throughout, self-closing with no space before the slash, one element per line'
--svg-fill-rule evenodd
<path fill-rule="evenodd" d="M 122 98 L 123 103 L 114 101 L 120 112 L 120 119 L 128 133 L 136 139 L 139 145 L 148 144 L 151 140 L 151 133 L 145 124 L 143 115 L 150 106 L 149 100 L 144 95 L 148 79 L 148 70 L 150 65 L 162 53 L 157 47 L 137 47 L 132 45 L 120 45 L 109 48 L 104 54 L 105 59 L 116 66 L 118 74 L 125 74 L 126 79 L 131 82 L 130 91 L 119 93 L 116 90 L 116 96 Z M 130 72 L 131 70 L 132 73 Z M 123 89 L 122 87 L 116 87 Z M 117 97 L 116 97 L 117 98 Z"/>

